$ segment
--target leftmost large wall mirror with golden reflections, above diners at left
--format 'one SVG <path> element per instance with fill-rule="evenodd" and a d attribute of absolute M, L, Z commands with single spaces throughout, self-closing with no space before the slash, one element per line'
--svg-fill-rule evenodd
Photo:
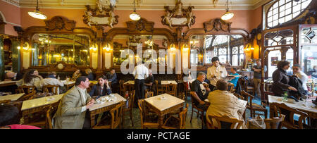
<path fill-rule="evenodd" d="M 32 66 L 48 66 L 59 61 L 89 66 L 89 36 L 35 34 L 32 37 Z"/>

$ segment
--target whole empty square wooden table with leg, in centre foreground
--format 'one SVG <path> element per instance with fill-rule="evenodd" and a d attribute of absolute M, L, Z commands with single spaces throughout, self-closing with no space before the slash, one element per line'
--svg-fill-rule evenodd
<path fill-rule="evenodd" d="M 166 97 L 166 99 L 161 99 L 161 97 Z M 155 97 L 150 97 L 144 99 L 147 102 L 147 106 L 152 108 L 154 112 L 159 115 L 159 127 L 163 125 L 163 118 L 170 111 L 179 110 L 184 106 L 185 101 L 177 97 L 173 97 L 170 94 L 160 94 Z"/>

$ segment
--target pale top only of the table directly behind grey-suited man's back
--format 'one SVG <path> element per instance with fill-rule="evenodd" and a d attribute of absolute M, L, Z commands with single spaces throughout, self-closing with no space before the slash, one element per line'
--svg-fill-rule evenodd
<path fill-rule="evenodd" d="M 56 101 L 61 99 L 64 94 L 58 94 L 54 96 L 49 96 L 49 97 L 42 97 L 38 99 L 31 99 L 31 100 L 25 100 L 23 101 L 21 111 L 30 109 L 30 108 L 36 108 L 39 106 L 45 106 L 49 104 L 54 104 Z"/>

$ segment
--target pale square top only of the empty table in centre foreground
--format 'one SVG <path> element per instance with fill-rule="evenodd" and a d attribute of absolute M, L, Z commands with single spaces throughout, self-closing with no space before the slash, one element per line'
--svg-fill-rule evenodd
<path fill-rule="evenodd" d="M 165 97 L 165 99 L 162 99 Z M 182 104 L 185 101 L 182 99 L 179 99 L 177 97 L 173 97 L 170 94 L 160 94 L 155 97 L 150 97 L 147 99 L 144 99 L 148 104 L 151 104 L 155 108 L 159 109 L 159 111 L 164 111 L 168 108 L 171 108 L 173 106 L 176 106 L 178 104 Z"/>

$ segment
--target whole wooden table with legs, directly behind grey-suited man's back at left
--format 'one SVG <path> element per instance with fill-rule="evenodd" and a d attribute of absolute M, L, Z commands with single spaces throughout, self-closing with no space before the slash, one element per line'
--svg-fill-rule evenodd
<path fill-rule="evenodd" d="M 21 111 L 22 111 L 22 116 L 24 118 L 24 123 L 28 123 L 28 116 L 31 113 L 37 113 L 39 111 L 42 111 L 43 106 L 54 104 L 57 101 L 59 101 L 62 97 L 63 97 L 63 94 L 58 94 L 54 96 L 23 101 Z"/>

